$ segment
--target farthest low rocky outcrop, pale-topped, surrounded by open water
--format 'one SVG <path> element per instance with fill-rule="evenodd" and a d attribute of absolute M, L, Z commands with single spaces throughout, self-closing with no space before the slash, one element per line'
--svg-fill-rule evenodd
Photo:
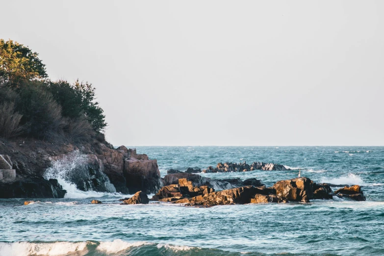
<path fill-rule="evenodd" d="M 244 161 L 243 163 L 218 163 L 216 168 L 209 166 L 203 170 L 203 173 L 249 172 L 254 170 L 286 171 L 289 169 L 285 168 L 282 164 L 254 162 L 249 165 Z"/>

